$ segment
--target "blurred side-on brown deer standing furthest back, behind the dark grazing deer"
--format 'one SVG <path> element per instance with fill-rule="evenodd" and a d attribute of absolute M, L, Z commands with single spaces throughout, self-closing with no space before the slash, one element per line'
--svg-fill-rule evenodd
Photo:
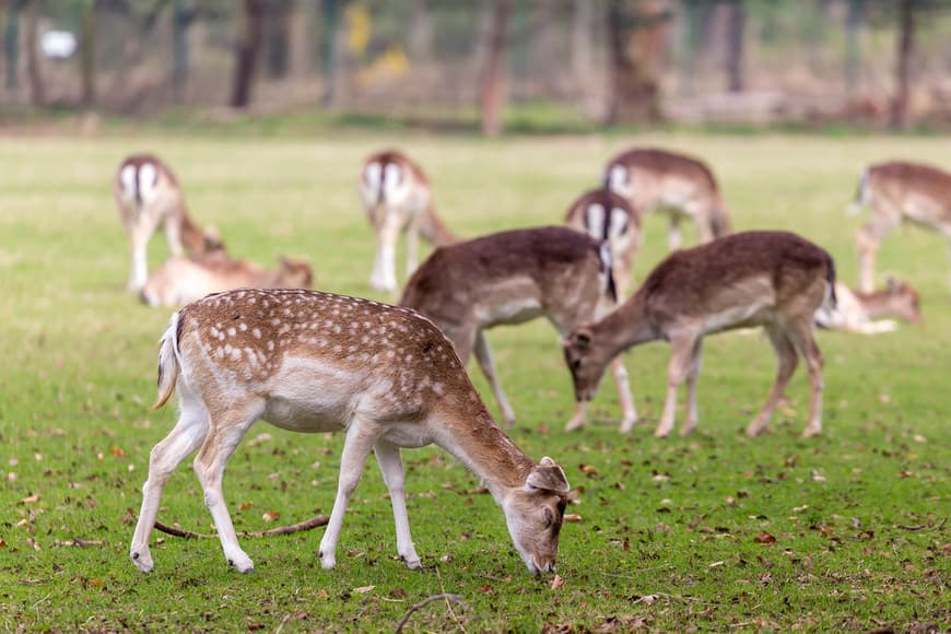
<path fill-rule="evenodd" d="M 649 148 L 627 150 L 608 163 L 604 187 L 626 198 L 634 209 L 667 213 L 670 250 L 680 248 L 683 218 L 694 221 L 703 243 L 730 233 L 730 218 L 713 172 L 691 156 Z"/>

